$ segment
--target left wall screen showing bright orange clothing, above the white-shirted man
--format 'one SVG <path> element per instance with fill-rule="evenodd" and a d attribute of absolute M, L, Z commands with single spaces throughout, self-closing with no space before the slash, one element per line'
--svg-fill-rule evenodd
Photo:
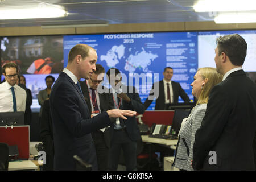
<path fill-rule="evenodd" d="M 39 111 L 37 95 L 46 89 L 45 77 L 57 78 L 63 70 L 63 36 L 3 37 L 1 40 L 1 67 L 14 62 L 26 78 L 32 93 L 32 111 Z M 3 80 L 1 76 L 1 81 Z"/>

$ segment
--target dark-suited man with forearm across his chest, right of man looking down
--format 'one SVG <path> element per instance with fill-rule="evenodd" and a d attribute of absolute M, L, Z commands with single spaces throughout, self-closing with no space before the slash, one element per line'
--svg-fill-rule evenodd
<path fill-rule="evenodd" d="M 111 68 L 106 73 L 112 88 L 110 93 L 115 109 L 134 110 L 144 113 L 144 106 L 137 90 L 133 86 L 122 85 L 122 76 L 118 69 Z M 110 144 L 109 169 L 117 170 L 121 149 L 127 171 L 137 170 L 137 140 L 141 140 L 135 117 L 128 117 L 126 122 L 117 118 L 110 127 L 112 139 Z"/>

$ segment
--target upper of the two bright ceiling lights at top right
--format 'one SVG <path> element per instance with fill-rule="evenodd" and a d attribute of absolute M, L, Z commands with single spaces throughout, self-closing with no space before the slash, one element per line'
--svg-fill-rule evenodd
<path fill-rule="evenodd" d="M 211 11 L 253 11 L 256 10 L 255 0 L 200 0 L 194 6 L 196 12 Z"/>

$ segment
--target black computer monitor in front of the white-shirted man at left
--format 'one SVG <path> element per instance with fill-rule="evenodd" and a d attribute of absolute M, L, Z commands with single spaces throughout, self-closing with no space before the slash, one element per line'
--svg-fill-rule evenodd
<path fill-rule="evenodd" d="M 0 113 L 0 126 L 20 126 L 24 125 L 23 112 Z"/>

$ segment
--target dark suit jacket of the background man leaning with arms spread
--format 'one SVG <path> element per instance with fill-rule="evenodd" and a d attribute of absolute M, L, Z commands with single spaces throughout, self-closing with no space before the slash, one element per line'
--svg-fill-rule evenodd
<path fill-rule="evenodd" d="M 155 110 L 164 110 L 165 107 L 165 96 L 164 96 L 164 83 L 163 80 L 159 81 L 159 96 L 156 98 L 155 101 Z M 190 99 L 185 93 L 185 91 L 181 88 L 180 84 L 178 82 L 172 81 L 172 92 L 173 92 L 173 98 L 174 98 L 174 103 L 178 103 L 179 101 L 179 96 L 184 100 L 184 102 L 190 102 Z M 155 83 L 152 86 L 152 89 L 150 91 L 150 96 L 154 95 L 154 92 L 152 92 L 155 88 Z M 144 106 L 147 109 L 148 106 L 152 103 L 153 100 L 149 100 L 148 98 L 144 102 Z"/>

